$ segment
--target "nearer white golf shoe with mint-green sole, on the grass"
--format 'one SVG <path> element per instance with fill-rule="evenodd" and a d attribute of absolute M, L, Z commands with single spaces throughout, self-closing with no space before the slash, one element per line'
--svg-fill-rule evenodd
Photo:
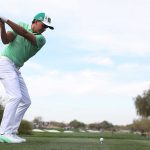
<path fill-rule="evenodd" d="M 14 136 L 12 134 L 0 135 L 0 139 L 1 139 L 1 141 L 5 142 L 5 143 L 22 143 L 23 142 L 22 140 L 14 138 Z"/>

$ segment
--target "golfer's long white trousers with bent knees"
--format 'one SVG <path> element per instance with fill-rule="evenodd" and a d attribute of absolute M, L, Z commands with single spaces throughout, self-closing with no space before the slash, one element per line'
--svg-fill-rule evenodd
<path fill-rule="evenodd" d="M 26 84 L 18 69 L 10 59 L 0 56 L 0 81 L 8 95 L 0 134 L 17 133 L 21 120 L 31 104 Z"/>

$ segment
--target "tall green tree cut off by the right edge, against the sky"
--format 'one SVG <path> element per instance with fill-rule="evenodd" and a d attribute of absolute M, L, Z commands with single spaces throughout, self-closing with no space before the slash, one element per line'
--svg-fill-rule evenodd
<path fill-rule="evenodd" d="M 150 116 L 150 89 L 135 98 L 135 107 L 138 115 L 146 118 Z"/>

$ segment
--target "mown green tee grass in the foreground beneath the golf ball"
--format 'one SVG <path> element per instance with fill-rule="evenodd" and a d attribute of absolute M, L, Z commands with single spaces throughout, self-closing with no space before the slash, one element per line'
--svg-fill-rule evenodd
<path fill-rule="evenodd" d="M 27 137 L 22 144 L 0 143 L 0 150 L 149 150 L 148 140 L 105 139 L 103 144 L 96 138 Z"/>

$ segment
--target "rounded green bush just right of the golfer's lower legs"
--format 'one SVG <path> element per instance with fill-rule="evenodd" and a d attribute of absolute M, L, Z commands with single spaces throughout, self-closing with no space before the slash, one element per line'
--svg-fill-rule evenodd
<path fill-rule="evenodd" d="M 32 123 L 22 120 L 19 127 L 19 134 L 32 134 Z"/>

